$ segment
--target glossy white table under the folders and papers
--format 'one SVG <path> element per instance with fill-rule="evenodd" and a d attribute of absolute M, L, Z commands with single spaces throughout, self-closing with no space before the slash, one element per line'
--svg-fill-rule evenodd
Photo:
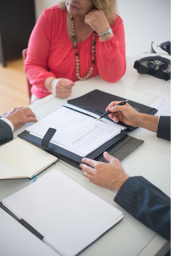
<path fill-rule="evenodd" d="M 137 74 L 137 71 L 133 68 L 135 59 L 131 59 L 127 62 L 127 72 L 118 82 L 108 83 L 103 81 L 99 76 L 83 82 L 78 81 L 73 87 L 72 95 L 68 99 L 79 97 L 95 89 L 116 94 L 120 97 L 143 103 L 144 105 L 150 105 L 161 95 L 171 97 L 171 81 L 165 82 L 149 75 Z M 55 109 L 61 107 L 67 100 L 57 99 L 54 98 L 53 95 L 49 95 L 30 105 L 30 108 L 36 114 L 37 119 L 40 120 L 52 113 Z M 30 124 L 27 124 L 15 131 L 14 138 L 29 125 Z M 131 176 L 142 175 L 171 197 L 170 142 L 158 139 L 153 132 L 140 128 L 130 134 L 145 142 L 121 162 L 125 171 Z M 59 169 L 71 179 L 124 213 L 124 219 L 120 221 L 118 225 L 110 229 L 91 246 L 87 247 L 80 255 L 159 256 L 165 255 L 171 247 L 171 243 L 159 235 L 156 235 L 156 233 L 149 228 L 146 228 L 113 202 L 115 192 L 92 184 L 82 175 L 82 172 L 75 167 L 63 161 L 59 161 L 56 165 L 49 167 L 46 171 L 39 174 L 37 178 L 40 178 L 46 172 L 50 171 L 54 166 L 55 169 Z M 32 181 L 27 179 L 0 181 L 0 201 L 2 198 L 26 187 L 30 182 Z M 9 250 L 11 250 L 12 255 L 12 250 L 15 249 Z"/>

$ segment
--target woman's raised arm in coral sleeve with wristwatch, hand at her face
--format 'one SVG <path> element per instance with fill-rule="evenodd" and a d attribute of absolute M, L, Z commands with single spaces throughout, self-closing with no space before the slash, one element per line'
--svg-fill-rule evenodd
<path fill-rule="evenodd" d="M 125 57 L 125 32 L 123 20 L 117 16 L 114 25 L 110 26 L 102 10 L 92 10 L 85 22 L 92 27 L 97 34 L 102 34 L 108 28 L 113 33 L 99 37 L 95 45 L 95 61 L 99 75 L 108 82 L 118 81 L 126 71 Z M 98 17 L 99 15 L 99 17 Z M 88 17 L 88 14 L 86 14 Z M 99 18 L 99 19 L 98 19 Z M 95 23 L 95 21 L 98 21 Z M 101 27 L 100 24 L 102 23 Z M 96 35 L 97 36 L 97 35 Z"/>

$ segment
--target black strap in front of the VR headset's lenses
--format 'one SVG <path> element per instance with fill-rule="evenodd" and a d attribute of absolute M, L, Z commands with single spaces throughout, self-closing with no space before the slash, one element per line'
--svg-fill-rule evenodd
<path fill-rule="evenodd" d="M 134 68 L 137 69 L 137 71 L 140 74 L 148 74 L 148 75 L 160 78 L 160 79 L 164 79 L 165 81 L 168 81 L 169 79 L 171 79 L 171 72 L 166 73 L 160 69 L 155 70 L 152 68 L 145 67 L 142 64 L 140 64 L 139 61 L 135 61 Z"/>

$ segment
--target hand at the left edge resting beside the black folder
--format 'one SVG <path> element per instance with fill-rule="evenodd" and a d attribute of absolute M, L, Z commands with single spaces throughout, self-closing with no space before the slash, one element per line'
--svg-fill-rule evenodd
<path fill-rule="evenodd" d="M 36 116 L 30 108 L 13 108 L 9 113 L 4 113 L 2 117 L 11 121 L 14 126 L 14 130 L 19 129 L 27 123 L 37 122 Z"/>

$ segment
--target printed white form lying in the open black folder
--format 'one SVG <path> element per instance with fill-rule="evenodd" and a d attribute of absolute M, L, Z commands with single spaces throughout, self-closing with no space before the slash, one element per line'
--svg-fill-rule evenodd
<path fill-rule="evenodd" d="M 50 127 L 56 129 L 51 142 L 79 156 L 86 156 L 120 133 L 117 127 L 66 107 L 31 125 L 27 131 L 43 138 Z"/>

